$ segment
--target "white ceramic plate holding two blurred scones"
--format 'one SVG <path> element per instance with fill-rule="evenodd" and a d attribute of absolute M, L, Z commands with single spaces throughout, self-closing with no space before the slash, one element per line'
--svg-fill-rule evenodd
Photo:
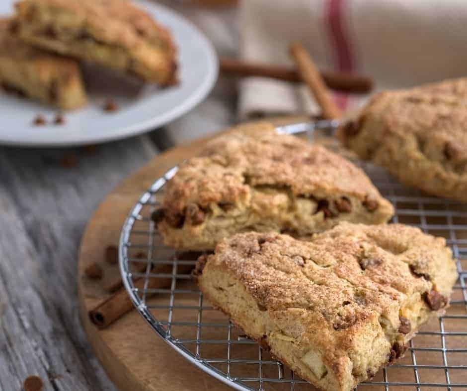
<path fill-rule="evenodd" d="M 0 14 L 12 12 L 14 0 L 0 1 Z M 209 93 L 217 79 L 218 59 L 211 43 L 189 21 L 172 10 L 146 0 L 136 4 L 172 33 L 179 51 L 177 86 L 143 85 L 105 69 L 87 66 L 89 105 L 66 112 L 65 125 L 52 125 L 57 110 L 0 91 L 0 143 L 22 146 L 65 146 L 99 143 L 160 127 L 185 114 Z M 112 98 L 119 110 L 106 113 Z M 33 126 L 42 114 L 50 125 Z"/>

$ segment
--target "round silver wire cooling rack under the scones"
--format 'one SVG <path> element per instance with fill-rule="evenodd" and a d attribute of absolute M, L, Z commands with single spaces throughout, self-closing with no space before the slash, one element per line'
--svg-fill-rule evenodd
<path fill-rule="evenodd" d="M 356 163 L 394 205 L 393 222 L 446 238 L 459 272 L 446 315 L 423 326 L 403 359 L 358 389 L 467 390 L 467 205 L 407 189 L 385 170 Z M 234 389 L 314 390 L 203 299 L 189 271 L 199 254 L 163 246 L 151 213 L 176 171 L 173 167 L 154 182 L 122 229 L 120 268 L 136 308 L 178 353 Z"/>

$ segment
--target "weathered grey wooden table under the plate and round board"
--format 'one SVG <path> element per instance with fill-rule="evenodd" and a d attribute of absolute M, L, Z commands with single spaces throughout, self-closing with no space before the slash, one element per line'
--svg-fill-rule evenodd
<path fill-rule="evenodd" d="M 187 15 L 220 55 L 237 49 L 234 8 L 165 1 Z M 191 113 L 95 148 L 0 146 L 0 390 L 38 375 L 44 390 L 115 390 L 78 317 L 77 255 L 93 209 L 162 149 L 235 121 L 235 85 L 221 78 Z"/>

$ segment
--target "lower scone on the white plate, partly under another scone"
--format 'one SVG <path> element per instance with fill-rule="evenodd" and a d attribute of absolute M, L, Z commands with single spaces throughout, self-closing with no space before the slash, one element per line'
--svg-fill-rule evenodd
<path fill-rule="evenodd" d="M 86 103 L 78 63 L 34 49 L 14 35 L 16 24 L 0 18 L 0 84 L 5 90 L 53 105 L 76 109 Z"/>

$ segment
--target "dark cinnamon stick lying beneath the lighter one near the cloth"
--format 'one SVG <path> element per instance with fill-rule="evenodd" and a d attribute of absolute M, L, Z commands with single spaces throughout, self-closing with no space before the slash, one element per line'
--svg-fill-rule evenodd
<path fill-rule="evenodd" d="M 221 72 L 233 76 L 259 76 L 273 79 L 302 82 L 297 69 L 283 65 L 268 65 L 244 62 L 229 58 L 220 59 Z M 373 89 L 371 78 L 350 72 L 321 71 L 321 76 L 329 88 L 351 93 L 368 93 Z"/>

